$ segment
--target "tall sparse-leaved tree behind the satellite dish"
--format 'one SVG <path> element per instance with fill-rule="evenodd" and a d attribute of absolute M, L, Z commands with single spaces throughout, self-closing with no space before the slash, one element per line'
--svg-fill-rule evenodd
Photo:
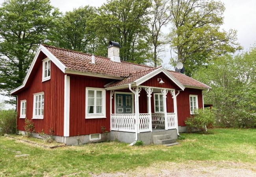
<path fill-rule="evenodd" d="M 171 0 L 169 39 L 177 54 L 171 63 L 184 63 L 188 76 L 216 57 L 241 49 L 235 30 L 220 30 L 224 9 L 220 1 Z"/>

